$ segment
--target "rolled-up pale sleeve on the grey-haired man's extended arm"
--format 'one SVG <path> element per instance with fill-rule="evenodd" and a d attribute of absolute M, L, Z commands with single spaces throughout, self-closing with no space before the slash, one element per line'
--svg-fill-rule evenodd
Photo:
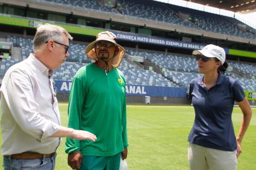
<path fill-rule="evenodd" d="M 20 128 L 41 141 L 55 134 L 59 124 L 44 118 L 39 112 L 39 104 L 35 102 L 32 81 L 25 71 L 14 70 L 1 93 L 10 109 L 12 117 Z"/>

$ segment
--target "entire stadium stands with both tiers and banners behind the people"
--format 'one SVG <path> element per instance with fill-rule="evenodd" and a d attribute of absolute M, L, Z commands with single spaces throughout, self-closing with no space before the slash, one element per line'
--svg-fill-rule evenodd
<path fill-rule="evenodd" d="M 153 0 L 0 0 L 0 79 L 33 52 L 39 24 L 63 26 L 72 36 L 70 57 L 54 73 L 59 101 L 68 101 L 75 72 L 91 63 L 86 45 L 112 31 L 127 50 L 127 102 L 190 103 L 189 82 L 201 76 L 192 50 L 207 44 L 224 48 L 227 76 L 238 79 L 250 103 L 256 102 L 256 30 L 235 18 Z"/>

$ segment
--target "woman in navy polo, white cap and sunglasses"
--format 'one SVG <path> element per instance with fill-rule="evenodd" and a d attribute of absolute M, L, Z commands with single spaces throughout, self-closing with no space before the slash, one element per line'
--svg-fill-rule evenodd
<path fill-rule="evenodd" d="M 251 120 L 250 104 L 239 82 L 223 75 L 228 67 L 223 48 L 210 44 L 193 55 L 203 77 L 193 79 L 189 88 L 195 109 L 188 137 L 190 170 L 236 170 L 241 141 Z M 231 120 L 235 101 L 244 115 L 236 138 Z"/>

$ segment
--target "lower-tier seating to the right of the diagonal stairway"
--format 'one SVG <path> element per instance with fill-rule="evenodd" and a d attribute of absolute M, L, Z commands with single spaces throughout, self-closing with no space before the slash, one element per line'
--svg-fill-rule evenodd
<path fill-rule="evenodd" d="M 163 76 L 168 78 L 171 82 L 179 85 L 179 87 L 187 88 L 192 79 L 202 76 L 202 74 L 197 73 L 197 61 L 193 57 L 176 56 L 170 54 L 166 55 L 163 53 L 154 52 L 141 52 L 130 49 L 128 49 L 127 52 L 133 56 L 145 57 L 157 67 L 166 68 L 167 70 L 162 72 Z M 244 75 L 256 74 L 256 64 L 227 62 L 229 63 L 230 67 L 233 69 L 239 69 L 244 73 Z M 225 75 L 240 80 L 240 82 L 242 82 L 242 87 L 247 91 L 256 89 L 256 80 L 239 78 L 234 74 L 234 72 L 232 72 L 232 70 L 225 72 Z"/>

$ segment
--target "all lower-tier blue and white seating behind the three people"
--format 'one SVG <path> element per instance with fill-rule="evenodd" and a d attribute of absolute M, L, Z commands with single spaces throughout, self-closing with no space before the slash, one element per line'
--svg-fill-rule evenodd
<path fill-rule="evenodd" d="M 12 42 L 14 46 L 21 47 L 22 58 L 19 59 L 2 59 L 0 67 L 0 77 L 3 77 L 9 67 L 21 60 L 24 60 L 32 53 L 33 40 L 30 38 L 22 38 L 18 36 L 7 36 L 7 41 Z M 77 70 L 93 62 L 89 60 L 85 54 L 86 45 L 70 43 L 69 58 L 61 68 L 55 70 L 53 78 L 56 80 L 72 81 Z M 184 57 L 182 55 L 171 55 L 160 52 L 145 52 L 127 49 L 127 55 L 140 56 L 149 60 L 155 66 L 166 68 L 165 72 L 158 74 L 154 71 L 143 70 L 129 63 L 126 57 L 120 64 L 119 69 L 124 72 L 126 82 L 134 85 L 149 85 L 163 87 L 185 87 L 196 77 L 202 76 L 197 73 L 197 61 L 193 57 Z M 249 63 L 229 62 L 232 68 L 225 73 L 229 77 L 238 79 L 245 90 L 255 90 L 256 80 L 248 78 L 240 78 L 234 72 L 234 69 L 240 71 L 244 75 L 256 75 L 256 65 Z"/>

